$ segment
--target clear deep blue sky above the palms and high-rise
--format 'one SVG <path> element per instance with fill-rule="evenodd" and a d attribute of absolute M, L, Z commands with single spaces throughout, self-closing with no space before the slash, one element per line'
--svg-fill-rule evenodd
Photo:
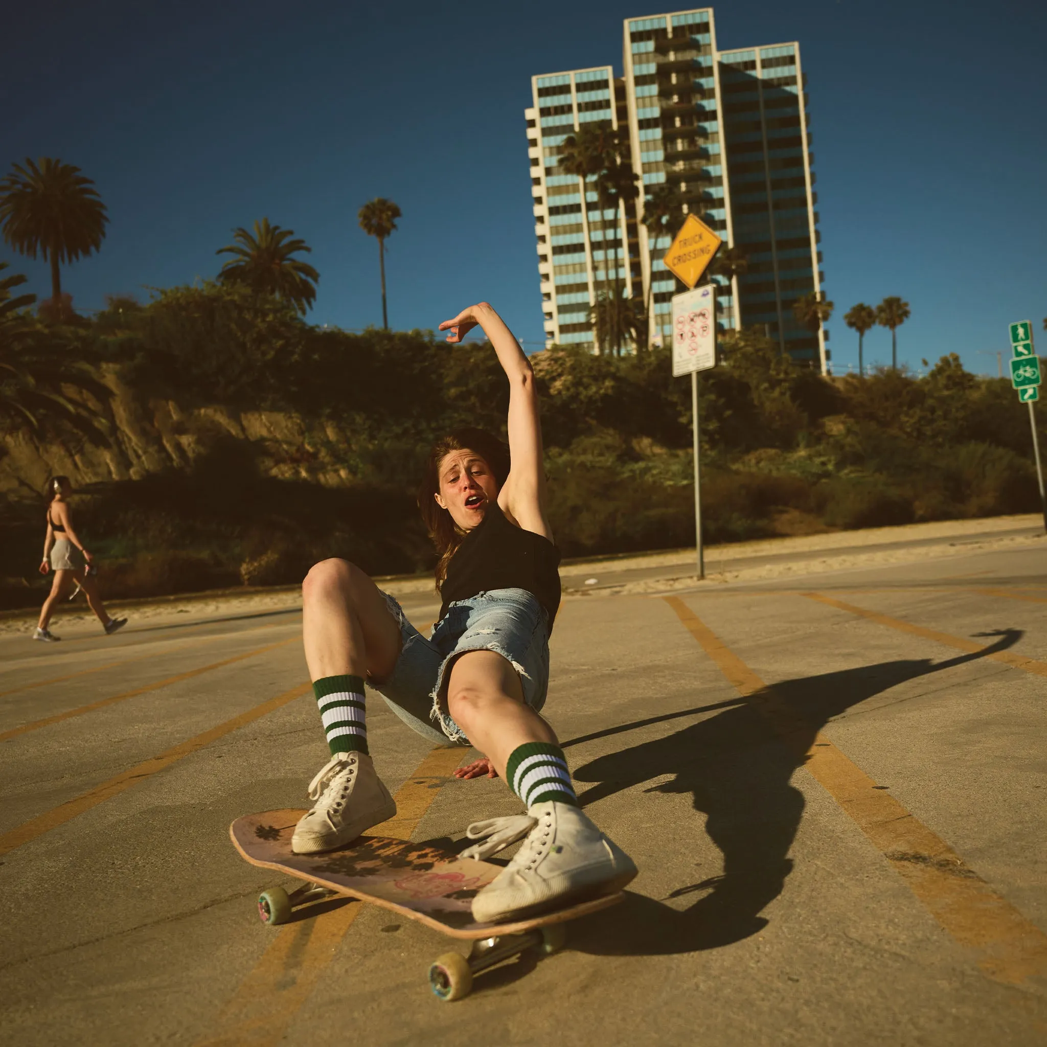
<path fill-rule="evenodd" d="M 684 5 L 682 5 L 683 7 Z M 670 8 L 677 9 L 677 8 Z M 995 373 L 1009 320 L 1047 346 L 1047 5 L 1038 0 L 732 0 L 720 47 L 798 40 L 809 79 L 833 364 L 843 313 L 899 294 L 899 358 L 958 352 Z M 271 0 L 39 3 L 4 15 L 0 171 L 58 156 L 93 178 L 111 224 L 66 270 L 79 309 L 214 275 L 263 216 L 313 248 L 315 322 L 381 322 L 377 245 L 356 213 L 404 214 L 388 242 L 389 322 L 436 328 L 492 302 L 541 344 L 524 109 L 530 76 L 611 63 L 632 2 Z M 46 266 L 0 244 L 49 293 Z M 1008 354 L 1009 355 L 1009 354 Z M 890 358 L 890 333 L 866 361 Z"/>

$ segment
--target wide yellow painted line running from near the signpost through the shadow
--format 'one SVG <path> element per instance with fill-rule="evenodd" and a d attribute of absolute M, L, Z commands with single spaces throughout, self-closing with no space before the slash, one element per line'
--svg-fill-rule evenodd
<path fill-rule="evenodd" d="M 1019 984 L 1047 972 L 1047 934 L 989 887 L 943 840 L 914 818 L 812 729 L 677 597 L 666 597 L 691 636 L 734 687 L 771 719 L 785 743 L 891 863 L 952 937 L 978 955 L 994 981 Z"/>

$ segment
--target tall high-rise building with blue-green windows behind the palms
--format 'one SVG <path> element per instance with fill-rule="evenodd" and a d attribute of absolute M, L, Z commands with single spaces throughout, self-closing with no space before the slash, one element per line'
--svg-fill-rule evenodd
<path fill-rule="evenodd" d="M 793 313 L 824 279 L 799 45 L 720 51 L 706 7 L 626 19 L 623 65 L 618 80 L 610 66 L 532 80 L 528 152 L 547 344 L 595 347 L 592 310 L 609 288 L 642 296 L 653 339 L 669 336 L 670 299 L 683 285 L 662 262 L 669 237 L 644 224 L 668 185 L 676 205 L 744 258 L 743 272 L 711 277 L 718 327 L 762 329 L 824 371 L 824 331 Z M 564 139 L 593 120 L 620 129 L 622 160 L 643 185 L 639 200 L 602 217 L 593 179 L 561 165 Z"/>

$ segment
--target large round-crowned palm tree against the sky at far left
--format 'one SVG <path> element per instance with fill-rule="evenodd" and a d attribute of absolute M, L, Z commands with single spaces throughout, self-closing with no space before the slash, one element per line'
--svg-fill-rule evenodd
<path fill-rule="evenodd" d="M 59 266 L 96 251 L 106 236 L 106 205 L 80 168 L 49 156 L 14 164 L 0 181 L 3 238 L 21 254 L 51 265 L 51 300 L 62 303 Z"/>

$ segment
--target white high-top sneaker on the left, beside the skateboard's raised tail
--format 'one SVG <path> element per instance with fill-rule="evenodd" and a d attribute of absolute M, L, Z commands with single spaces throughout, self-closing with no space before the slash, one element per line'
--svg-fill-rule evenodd
<path fill-rule="evenodd" d="M 335 753 L 309 783 L 313 809 L 291 838 L 295 854 L 333 850 L 396 815 L 396 801 L 366 753 Z"/>

